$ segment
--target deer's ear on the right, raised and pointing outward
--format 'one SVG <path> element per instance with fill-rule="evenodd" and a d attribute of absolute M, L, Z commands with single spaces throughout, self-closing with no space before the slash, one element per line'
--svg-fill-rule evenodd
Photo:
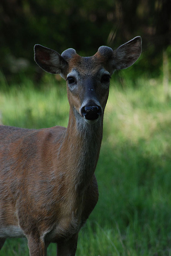
<path fill-rule="evenodd" d="M 113 51 L 111 61 L 113 71 L 130 67 L 136 62 L 142 52 L 141 36 L 137 36 L 129 42 L 121 45 Z"/>

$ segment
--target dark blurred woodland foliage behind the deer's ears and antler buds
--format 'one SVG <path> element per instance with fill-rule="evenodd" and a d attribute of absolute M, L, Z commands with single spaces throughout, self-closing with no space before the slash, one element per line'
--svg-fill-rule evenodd
<path fill-rule="evenodd" d="M 0 70 L 10 84 L 22 76 L 40 81 L 33 60 L 36 43 L 62 53 L 75 48 L 93 55 L 99 46 L 116 48 L 141 35 L 138 75 L 161 73 L 163 49 L 171 42 L 170 0 L 2 0 Z M 171 48 L 168 53 L 170 54 Z"/>

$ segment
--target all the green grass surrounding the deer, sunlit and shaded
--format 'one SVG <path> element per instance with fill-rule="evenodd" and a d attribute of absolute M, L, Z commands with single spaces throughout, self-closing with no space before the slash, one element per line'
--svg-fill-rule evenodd
<path fill-rule="evenodd" d="M 67 126 L 65 82 L 48 77 L 39 90 L 25 81 L 0 91 L 3 124 Z M 136 80 L 135 89 L 111 82 L 96 177 L 99 201 L 76 255 L 171 256 L 171 101 L 160 80 Z M 4 255 L 29 255 L 26 240 L 7 239 Z"/>

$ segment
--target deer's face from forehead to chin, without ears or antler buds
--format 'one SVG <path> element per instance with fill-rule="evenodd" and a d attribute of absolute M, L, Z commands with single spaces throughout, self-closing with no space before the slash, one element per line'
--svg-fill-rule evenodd
<path fill-rule="evenodd" d="M 69 104 L 87 123 L 94 123 L 104 113 L 110 73 L 95 56 L 76 55 L 74 63 L 66 78 Z"/>

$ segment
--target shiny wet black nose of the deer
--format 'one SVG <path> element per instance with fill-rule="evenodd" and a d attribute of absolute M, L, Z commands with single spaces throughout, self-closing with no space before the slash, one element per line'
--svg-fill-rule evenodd
<path fill-rule="evenodd" d="M 102 114 L 100 106 L 84 106 L 81 108 L 81 115 L 88 120 L 95 120 Z"/>

